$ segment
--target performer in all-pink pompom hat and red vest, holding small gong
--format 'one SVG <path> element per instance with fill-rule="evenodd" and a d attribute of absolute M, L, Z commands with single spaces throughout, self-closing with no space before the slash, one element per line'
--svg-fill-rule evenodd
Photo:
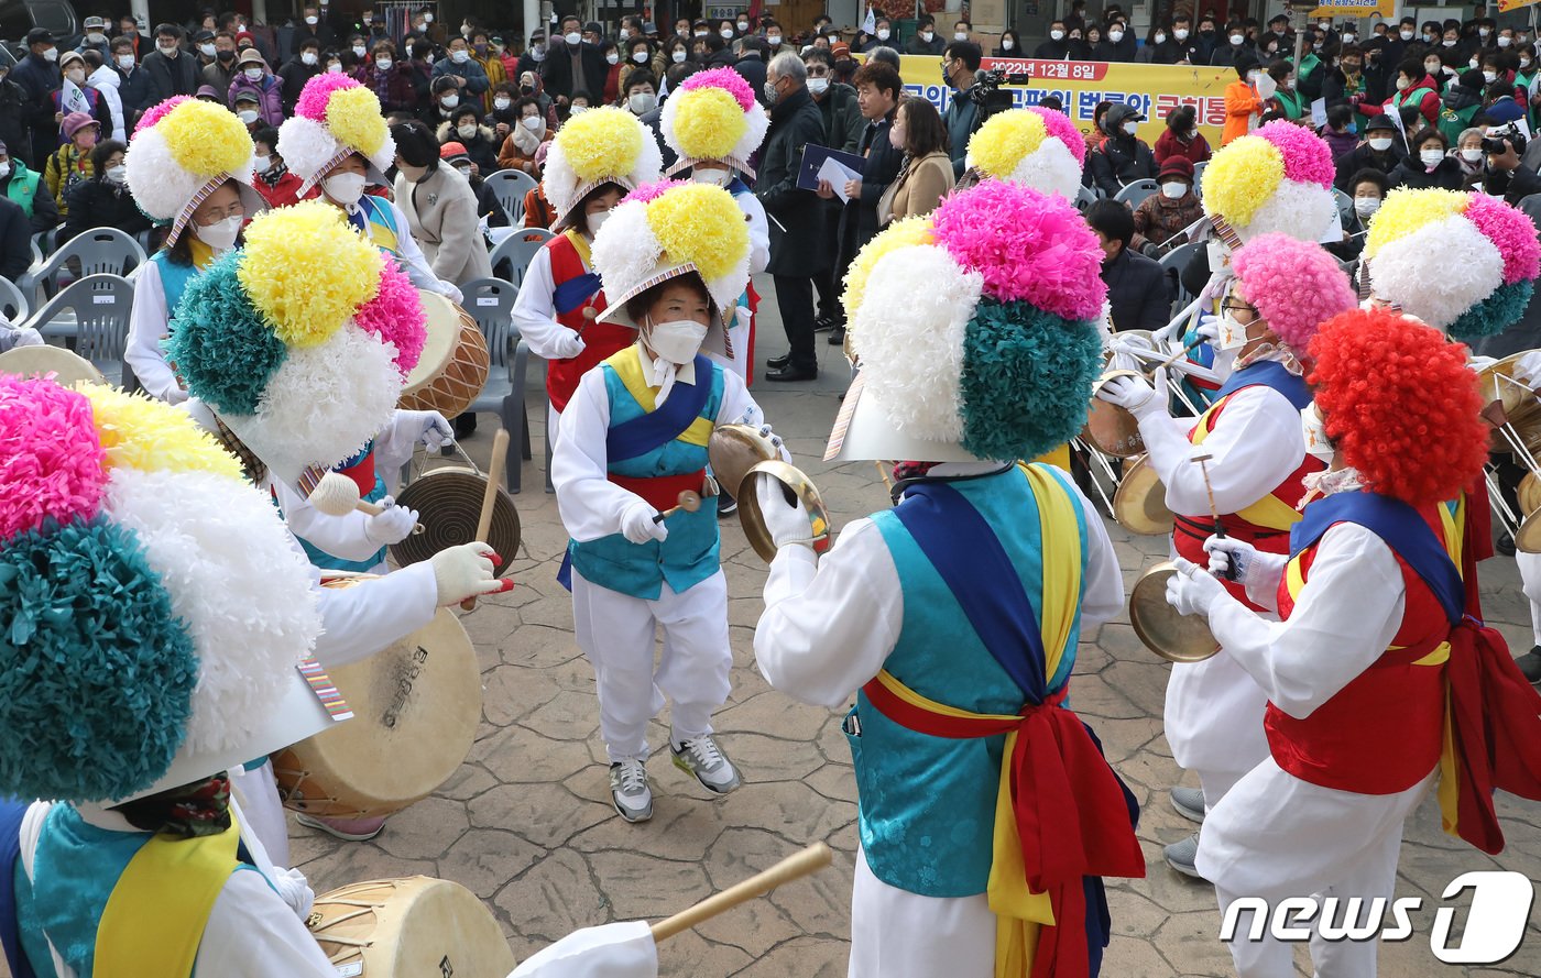
<path fill-rule="evenodd" d="M 1231 271 L 1236 279 L 1220 302 L 1217 345 L 1236 351 L 1236 370 L 1197 424 L 1167 414 L 1163 376 L 1156 388 L 1140 377 L 1116 377 L 1097 394 L 1139 419 L 1147 457 L 1176 514 L 1173 550 L 1190 561 L 1202 556 L 1214 528 L 1211 493 L 1227 534 L 1268 553 L 1288 547 L 1305 493 L 1301 479 L 1325 465 L 1325 448 L 1301 434 L 1301 411 L 1311 402 L 1301 376 L 1304 351 L 1321 322 L 1355 306 L 1348 276 L 1310 242 L 1264 234 L 1231 256 Z M 1191 461 L 1196 453 L 1208 456 L 1202 467 Z M 1241 585 L 1228 588 L 1245 599 Z M 1225 651 L 1173 665 L 1167 741 L 1177 764 L 1196 772 L 1202 785 L 1173 789 L 1177 812 L 1204 821 L 1205 810 L 1267 756 L 1262 708 L 1262 687 Z M 1197 833 L 1173 842 L 1168 864 L 1196 875 L 1197 846 Z"/>

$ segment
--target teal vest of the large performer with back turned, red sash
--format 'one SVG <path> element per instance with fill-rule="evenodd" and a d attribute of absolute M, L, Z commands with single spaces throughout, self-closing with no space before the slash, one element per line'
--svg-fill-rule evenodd
<path fill-rule="evenodd" d="M 1049 471 L 1065 488 L 1065 479 Z M 1012 468 L 951 485 L 1000 538 L 1034 616 L 1042 621 L 1042 531 L 1032 490 L 1022 471 Z M 898 642 L 883 668 L 915 693 L 949 707 L 1005 715 L 1022 710 L 1022 690 L 969 627 L 952 591 L 905 525 L 892 511 L 877 513 L 872 522 L 894 559 L 905 596 Z M 1080 507 L 1076 507 L 1076 522 L 1085 593 L 1086 522 Z M 991 582 L 980 579 L 977 585 L 988 588 Z M 1065 655 L 1049 678 L 1049 692 L 1069 678 L 1079 635 L 1077 611 Z M 915 733 L 883 716 L 866 693 L 857 695 L 852 713 L 860 721 L 860 733 L 848 733 L 846 739 L 860 796 L 861 849 L 872 875 L 922 896 L 983 893 L 989 881 L 1005 735 L 946 739 Z"/>

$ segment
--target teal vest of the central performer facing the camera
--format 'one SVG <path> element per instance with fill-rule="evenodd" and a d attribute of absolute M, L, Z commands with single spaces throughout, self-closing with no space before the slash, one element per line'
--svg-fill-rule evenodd
<path fill-rule="evenodd" d="M 623 350 L 619 356 L 629 356 Z M 621 376 L 609 363 L 601 363 L 604 390 L 610 400 L 610 425 L 619 425 L 644 414 Z M 712 393 L 701 408 L 701 417 L 713 420 L 723 407 L 723 368 L 712 363 L 712 376 L 703 377 L 700 368 L 697 383 L 710 383 Z M 650 476 L 683 476 L 706 468 L 706 447 L 672 440 L 635 459 L 610 462 L 609 471 L 630 479 Z M 663 595 L 663 582 L 675 591 L 684 591 L 718 571 L 717 507 L 703 505 L 695 513 L 678 511 L 669 516 L 669 536 L 646 544 L 633 544 L 619 533 L 601 536 L 596 541 L 567 545 L 573 568 L 584 581 L 619 591 L 632 598 L 656 601 Z"/>

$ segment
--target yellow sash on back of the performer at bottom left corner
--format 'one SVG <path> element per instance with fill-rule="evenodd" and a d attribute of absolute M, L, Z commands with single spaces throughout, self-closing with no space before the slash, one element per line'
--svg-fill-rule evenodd
<path fill-rule="evenodd" d="M 128 861 L 96 938 L 96 978 L 193 973 L 214 901 L 236 869 L 240 829 L 174 839 L 157 835 Z"/>

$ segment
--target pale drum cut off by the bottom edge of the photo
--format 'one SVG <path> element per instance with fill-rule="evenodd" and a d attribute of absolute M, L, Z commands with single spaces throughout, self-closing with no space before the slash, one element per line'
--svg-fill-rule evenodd
<path fill-rule="evenodd" d="M 354 883 L 317 896 L 305 926 L 334 966 L 362 964 L 353 973 L 364 978 L 505 978 L 515 967 L 492 912 L 448 879 Z"/>

